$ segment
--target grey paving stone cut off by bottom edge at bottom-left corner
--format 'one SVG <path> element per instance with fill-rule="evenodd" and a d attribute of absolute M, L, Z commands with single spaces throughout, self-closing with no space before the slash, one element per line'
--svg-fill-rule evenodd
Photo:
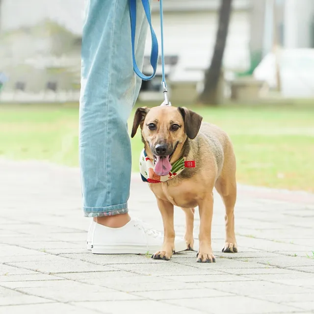
<path fill-rule="evenodd" d="M 0 313 L 7 314 L 95 314 L 93 310 L 81 308 L 79 306 L 64 304 L 64 303 L 45 303 L 45 304 L 29 304 L 29 305 L 16 305 L 16 306 L 2 306 Z M 102 312 L 105 313 L 105 312 Z"/>

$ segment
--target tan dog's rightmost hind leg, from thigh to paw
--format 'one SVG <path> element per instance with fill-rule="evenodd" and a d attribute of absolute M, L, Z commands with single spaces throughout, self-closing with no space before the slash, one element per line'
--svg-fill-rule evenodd
<path fill-rule="evenodd" d="M 225 158 L 222 173 L 215 183 L 215 188 L 220 194 L 226 208 L 226 240 L 222 252 L 236 253 L 237 244 L 235 240 L 235 201 L 236 201 L 236 180 L 235 180 L 235 157 L 232 154 Z"/>

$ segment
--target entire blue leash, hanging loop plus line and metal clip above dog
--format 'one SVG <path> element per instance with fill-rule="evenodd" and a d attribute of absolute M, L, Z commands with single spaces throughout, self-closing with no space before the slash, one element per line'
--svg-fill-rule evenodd
<path fill-rule="evenodd" d="M 136 28 L 136 1 L 137 0 L 129 0 L 130 5 L 130 19 L 131 19 L 131 43 L 132 43 L 132 59 L 133 59 L 133 70 L 135 74 L 143 79 L 143 80 L 150 80 L 155 77 L 157 64 L 158 64 L 158 41 L 155 34 L 155 31 L 152 26 L 152 19 L 151 19 L 151 8 L 149 5 L 149 0 L 142 0 L 142 4 L 144 7 L 145 15 L 151 30 L 151 37 L 152 37 L 152 51 L 151 51 L 151 58 L 150 63 L 153 68 L 153 74 L 151 76 L 144 75 L 137 66 L 136 59 L 135 59 L 135 28 Z M 161 85 L 163 87 L 163 95 L 164 95 L 164 102 L 163 105 L 171 105 L 168 98 L 168 89 L 167 83 L 165 78 L 165 69 L 164 69 L 164 53 L 163 53 L 163 10 L 162 10 L 162 0 L 159 0 L 160 3 L 160 27 L 161 27 L 161 65 L 162 65 L 162 80 Z"/>

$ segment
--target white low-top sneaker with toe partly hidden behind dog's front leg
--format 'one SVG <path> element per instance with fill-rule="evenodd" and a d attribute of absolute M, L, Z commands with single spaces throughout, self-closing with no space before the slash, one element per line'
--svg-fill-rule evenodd
<path fill-rule="evenodd" d="M 87 249 L 93 254 L 154 254 L 162 243 L 162 234 L 133 218 L 121 228 L 109 228 L 93 221 L 87 235 Z M 175 251 L 185 250 L 185 241 L 176 239 Z"/>

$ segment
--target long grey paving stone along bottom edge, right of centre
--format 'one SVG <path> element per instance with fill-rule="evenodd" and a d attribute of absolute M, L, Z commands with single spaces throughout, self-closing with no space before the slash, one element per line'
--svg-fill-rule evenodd
<path fill-rule="evenodd" d="M 167 303 L 189 306 L 193 309 L 213 314 L 262 314 L 262 313 L 295 313 L 295 307 L 276 304 L 268 301 L 252 299 L 244 296 L 223 296 L 214 298 L 198 298 L 190 302 L 189 299 L 167 300 Z"/>

